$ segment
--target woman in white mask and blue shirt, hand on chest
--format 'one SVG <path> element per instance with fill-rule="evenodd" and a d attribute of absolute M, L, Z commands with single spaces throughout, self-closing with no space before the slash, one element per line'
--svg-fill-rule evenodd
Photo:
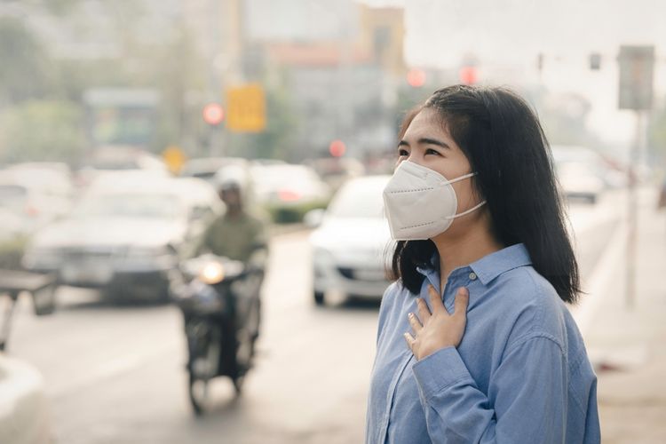
<path fill-rule="evenodd" d="M 578 267 L 543 130 L 500 88 L 408 115 L 385 188 L 397 241 L 368 443 L 599 442 L 596 376 L 564 303 Z"/>

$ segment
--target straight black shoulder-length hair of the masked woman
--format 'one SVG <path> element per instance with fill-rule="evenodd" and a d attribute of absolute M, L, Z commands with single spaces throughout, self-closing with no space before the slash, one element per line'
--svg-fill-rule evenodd
<path fill-rule="evenodd" d="M 580 293 L 574 249 L 558 191 L 551 150 L 535 112 L 505 88 L 454 85 L 435 91 L 405 117 L 400 138 L 424 108 L 437 111 L 440 122 L 463 150 L 483 196 L 493 234 L 504 246 L 524 243 L 535 270 L 567 303 Z M 432 241 L 400 241 L 392 252 L 392 277 L 412 293 L 432 269 L 437 252 Z"/>

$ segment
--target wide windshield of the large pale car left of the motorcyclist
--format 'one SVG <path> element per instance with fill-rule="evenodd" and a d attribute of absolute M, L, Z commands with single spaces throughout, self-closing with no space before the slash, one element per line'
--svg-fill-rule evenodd
<path fill-rule="evenodd" d="M 74 216 L 112 218 L 178 218 L 177 197 L 172 194 L 97 194 L 85 198 Z"/>

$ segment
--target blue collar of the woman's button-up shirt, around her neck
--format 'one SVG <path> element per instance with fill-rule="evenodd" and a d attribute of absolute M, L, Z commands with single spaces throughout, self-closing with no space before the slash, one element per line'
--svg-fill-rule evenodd
<path fill-rule="evenodd" d="M 435 256 L 433 257 L 433 265 L 437 263 L 436 259 L 437 253 L 435 253 Z M 529 266 L 531 264 L 532 260 L 529 258 L 529 253 L 527 252 L 525 244 L 517 243 L 503 248 L 502 250 L 495 251 L 494 253 L 490 253 L 483 258 L 472 262 L 469 267 L 472 268 L 474 274 L 477 275 L 483 285 L 488 285 L 490 281 L 493 281 L 500 274 L 518 268 L 519 266 Z M 459 270 L 460 268 L 456 268 L 456 270 Z M 451 274 L 454 274 L 456 270 Z M 416 271 L 423 274 L 431 281 L 437 281 L 439 285 L 439 278 L 434 279 L 434 276 L 432 276 L 432 274 L 437 274 L 439 276 L 439 269 L 430 269 L 419 266 L 416 267 Z"/>

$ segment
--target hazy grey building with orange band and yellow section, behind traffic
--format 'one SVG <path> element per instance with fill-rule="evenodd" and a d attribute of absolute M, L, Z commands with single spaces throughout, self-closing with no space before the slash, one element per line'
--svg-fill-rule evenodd
<path fill-rule="evenodd" d="M 261 45 L 269 72 L 283 73 L 280 81 L 300 122 L 299 157 L 326 155 L 336 139 L 357 157 L 389 146 L 395 133 L 395 91 L 407 71 L 403 10 L 351 0 L 332 8 L 315 1 L 308 7 L 318 12 L 317 20 L 283 4 L 280 8 L 293 14 L 290 20 L 266 20 L 281 13 L 276 4 L 250 4 L 247 38 Z"/>

